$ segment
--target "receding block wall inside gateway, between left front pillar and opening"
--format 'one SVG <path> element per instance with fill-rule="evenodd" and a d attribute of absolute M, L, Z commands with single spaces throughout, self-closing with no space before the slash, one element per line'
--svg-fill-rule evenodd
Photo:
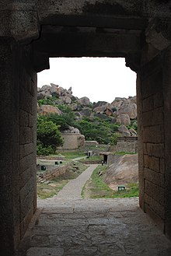
<path fill-rule="evenodd" d="M 28 65 L 27 62 L 25 62 Z M 22 68 L 19 81 L 19 198 L 20 235 L 26 232 L 37 209 L 37 74 Z"/>

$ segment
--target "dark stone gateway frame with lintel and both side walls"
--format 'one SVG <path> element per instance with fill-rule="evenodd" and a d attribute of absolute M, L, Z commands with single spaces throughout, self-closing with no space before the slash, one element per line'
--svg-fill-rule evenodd
<path fill-rule="evenodd" d="M 37 209 L 37 72 L 50 57 L 124 57 L 137 72 L 140 206 L 171 237 L 171 4 L 1 2 L 1 247 L 12 255 Z"/>

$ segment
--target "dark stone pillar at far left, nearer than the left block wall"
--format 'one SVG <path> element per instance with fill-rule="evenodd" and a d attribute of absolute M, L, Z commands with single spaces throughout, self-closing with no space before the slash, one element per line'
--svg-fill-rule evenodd
<path fill-rule="evenodd" d="M 11 38 L 0 37 L 0 250 L 4 255 L 12 255 L 14 233 L 19 236 L 19 83 L 14 82 L 12 44 Z"/>

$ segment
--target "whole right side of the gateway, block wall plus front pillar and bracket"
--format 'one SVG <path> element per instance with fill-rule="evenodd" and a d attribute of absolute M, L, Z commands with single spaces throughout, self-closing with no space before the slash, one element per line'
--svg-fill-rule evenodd
<path fill-rule="evenodd" d="M 171 237 L 169 23 L 153 19 L 145 35 L 148 44 L 141 56 L 141 113 L 138 113 L 140 149 L 143 149 L 143 158 L 139 156 L 140 205 Z"/>

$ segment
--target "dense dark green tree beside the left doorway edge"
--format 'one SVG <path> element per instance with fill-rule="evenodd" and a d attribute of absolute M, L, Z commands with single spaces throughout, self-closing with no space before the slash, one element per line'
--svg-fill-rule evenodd
<path fill-rule="evenodd" d="M 37 118 L 37 153 L 45 154 L 55 153 L 58 146 L 63 145 L 61 132 L 58 130 L 58 125 L 53 121 L 47 121 L 44 117 Z"/>

